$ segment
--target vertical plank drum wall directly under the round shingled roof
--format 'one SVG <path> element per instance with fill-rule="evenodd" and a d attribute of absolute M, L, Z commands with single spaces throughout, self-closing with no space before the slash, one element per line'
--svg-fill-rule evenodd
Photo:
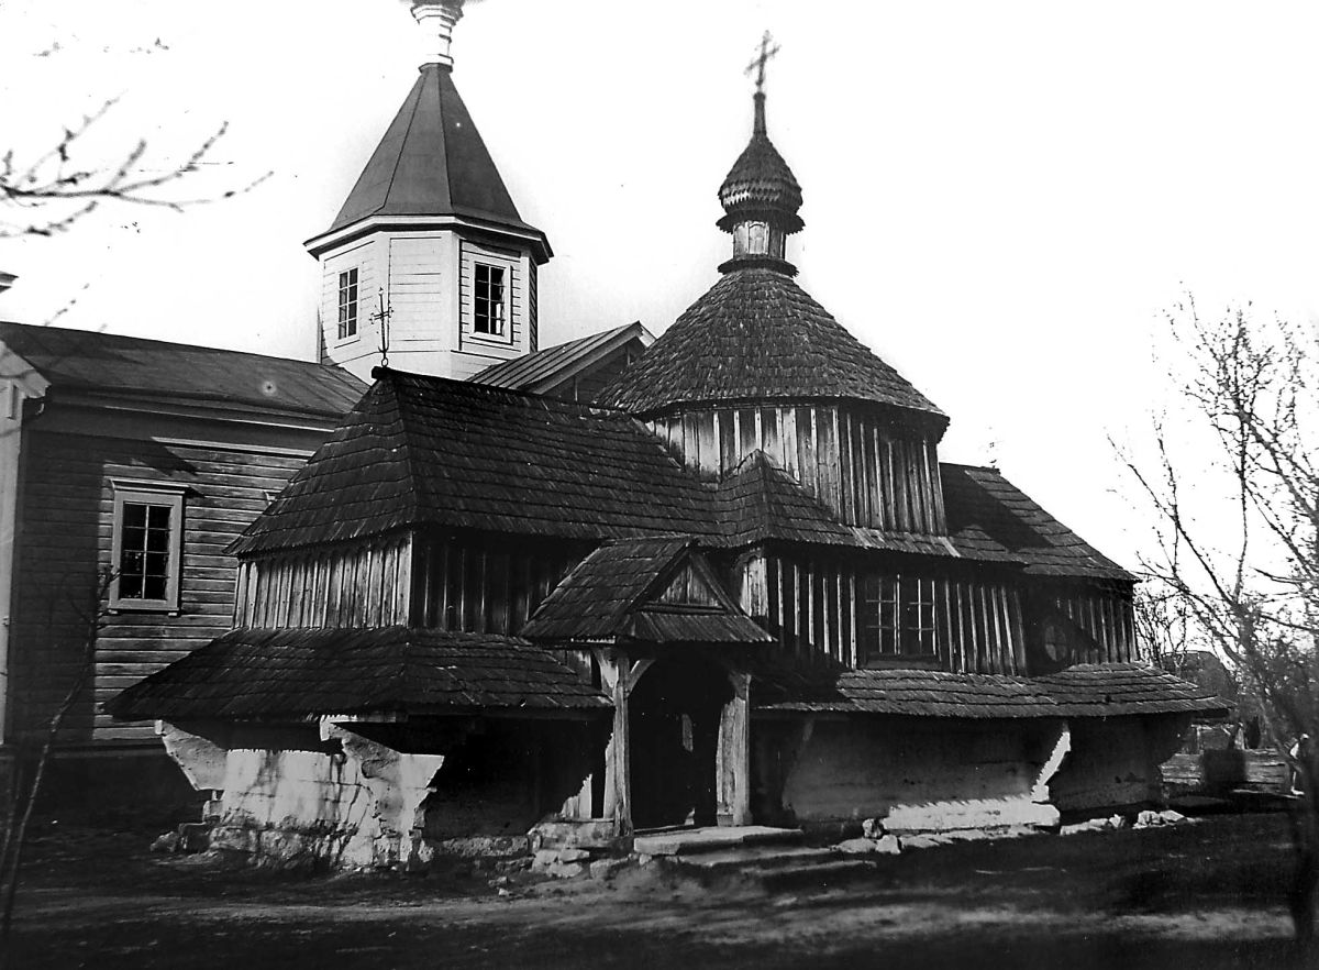
<path fill-rule="evenodd" d="M 947 534 L 933 439 L 881 416 L 834 405 L 683 410 L 649 428 L 687 467 L 725 475 L 761 450 L 843 521 Z"/>

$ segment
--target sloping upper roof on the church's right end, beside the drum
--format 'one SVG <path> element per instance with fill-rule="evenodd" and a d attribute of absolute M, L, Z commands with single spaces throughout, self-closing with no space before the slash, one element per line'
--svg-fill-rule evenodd
<path fill-rule="evenodd" d="M 939 463 L 948 531 L 959 553 L 1024 562 L 1035 575 L 1136 577 L 1089 545 L 997 469 Z"/>

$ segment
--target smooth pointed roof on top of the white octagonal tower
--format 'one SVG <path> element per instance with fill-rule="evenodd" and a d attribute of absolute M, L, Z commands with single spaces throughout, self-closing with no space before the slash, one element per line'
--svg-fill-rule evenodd
<path fill-rule="evenodd" d="M 389 215 L 467 216 L 545 239 L 518 215 L 447 66 L 422 66 L 328 232 Z"/>

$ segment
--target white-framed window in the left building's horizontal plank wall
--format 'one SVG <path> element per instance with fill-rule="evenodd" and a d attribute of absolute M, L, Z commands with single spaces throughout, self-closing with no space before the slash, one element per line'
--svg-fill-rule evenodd
<path fill-rule="evenodd" d="M 112 484 L 111 608 L 178 610 L 185 488 L 133 480 Z"/>

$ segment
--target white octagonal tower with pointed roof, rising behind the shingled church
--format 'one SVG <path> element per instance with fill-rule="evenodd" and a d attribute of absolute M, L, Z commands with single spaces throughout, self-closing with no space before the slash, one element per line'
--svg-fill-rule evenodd
<path fill-rule="evenodd" d="M 537 348 L 537 272 L 553 252 L 454 84 L 463 0 L 410 7 L 417 82 L 330 228 L 306 242 L 321 264 L 321 360 L 363 380 L 385 358 L 462 380 Z"/>

